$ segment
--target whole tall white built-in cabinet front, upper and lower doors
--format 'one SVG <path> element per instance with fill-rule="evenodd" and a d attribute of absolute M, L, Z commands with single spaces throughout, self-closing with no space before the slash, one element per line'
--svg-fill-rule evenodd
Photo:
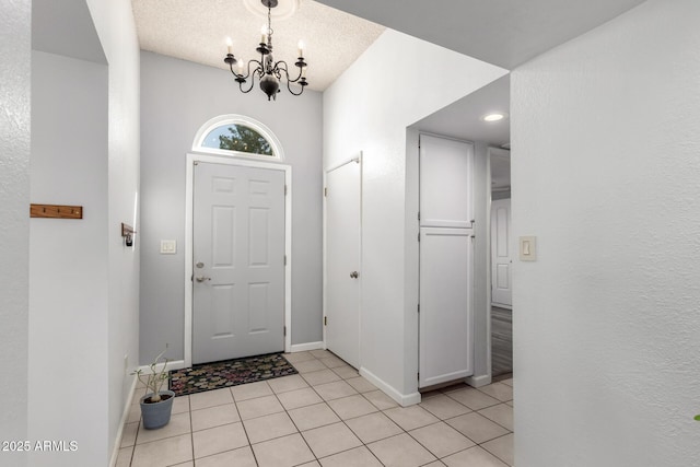
<path fill-rule="evenodd" d="M 474 373 L 470 143 L 420 138 L 419 387 Z"/>

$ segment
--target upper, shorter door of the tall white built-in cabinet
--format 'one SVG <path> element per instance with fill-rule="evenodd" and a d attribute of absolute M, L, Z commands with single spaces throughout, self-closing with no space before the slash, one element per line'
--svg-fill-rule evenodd
<path fill-rule="evenodd" d="M 470 229 L 474 145 L 420 136 L 420 224 Z"/>

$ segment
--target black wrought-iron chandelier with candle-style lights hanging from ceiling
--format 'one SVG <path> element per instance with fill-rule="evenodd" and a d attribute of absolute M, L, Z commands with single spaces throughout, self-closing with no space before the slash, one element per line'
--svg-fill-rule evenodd
<path fill-rule="evenodd" d="M 260 0 L 264 7 L 267 7 L 267 26 L 262 26 L 260 31 L 260 44 L 255 49 L 260 54 L 260 60 L 250 60 L 246 62 L 242 59 L 236 59 L 233 56 L 231 39 L 228 40 L 229 52 L 223 59 L 224 62 L 231 68 L 231 72 L 235 77 L 235 81 L 238 83 L 238 87 L 243 93 L 249 93 L 255 85 L 256 78 L 260 82 L 260 89 L 267 94 L 267 100 L 275 100 L 277 93 L 280 92 L 280 80 L 284 77 L 287 81 L 287 89 L 293 95 L 301 95 L 304 92 L 304 87 L 308 85 L 306 81 L 306 62 L 304 61 L 304 43 L 299 42 L 299 58 L 294 66 L 299 68 L 299 74 L 295 79 L 290 79 L 290 71 L 284 60 L 275 61 L 272 57 L 272 9 L 277 7 L 278 0 Z M 255 66 L 254 70 L 250 68 Z M 247 89 L 246 83 L 250 80 Z M 301 89 L 299 92 L 294 92 L 291 84 L 298 83 Z"/>

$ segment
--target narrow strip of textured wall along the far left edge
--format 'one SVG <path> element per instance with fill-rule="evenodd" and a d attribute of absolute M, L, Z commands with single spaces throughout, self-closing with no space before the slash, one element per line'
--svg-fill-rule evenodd
<path fill-rule="evenodd" d="M 0 3 L 1 440 L 27 436 L 31 5 L 30 0 Z M 22 455 L 2 456 L 26 465 Z"/>

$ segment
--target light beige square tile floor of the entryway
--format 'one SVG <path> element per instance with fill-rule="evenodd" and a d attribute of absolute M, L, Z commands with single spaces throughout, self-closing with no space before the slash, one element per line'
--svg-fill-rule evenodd
<path fill-rule="evenodd" d="M 135 395 L 117 466 L 513 466 L 512 380 L 404 408 L 328 351 L 285 357 L 300 374 L 177 397 L 160 430 Z"/>

